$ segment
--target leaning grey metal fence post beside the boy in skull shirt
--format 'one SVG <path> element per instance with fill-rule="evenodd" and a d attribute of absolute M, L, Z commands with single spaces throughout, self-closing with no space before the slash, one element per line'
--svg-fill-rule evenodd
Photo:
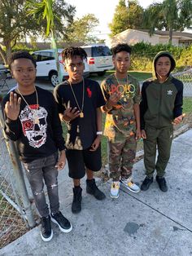
<path fill-rule="evenodd" d="M 0 125 L 3 127 L 4 126 L 4 121 L 3 121 L 3 116 L 2 116 L 2 109 L 0 107 Z M 2 129 L 3 135 L 6 139 L 6 144 L 7 144 L 7 150 L 9 152 L 9 156 L 11 158 L 11 162 L 13 165 L 13 170 L 15 173 L 15 178 L 16 182 L 18 185 L 19 189 L 19 194 L 21 197 L 21 201 L 24 205 L 24 214 L 26 215 L 27 221 L 28 221 L 28 226 L 29 227 L 35 227 L 36 223 L 33 218 L 33 211 L 31 207 L 31 203 L 28 198 L 28 191 L 24 182 L 24 174 L 23 174 L 23 169 L 20 163 L 20 159 L 18 156 L 18 152 L 15 148 L 15 143 L 12 142 L 10 139 L 7 139 L 7 136 Z"/>

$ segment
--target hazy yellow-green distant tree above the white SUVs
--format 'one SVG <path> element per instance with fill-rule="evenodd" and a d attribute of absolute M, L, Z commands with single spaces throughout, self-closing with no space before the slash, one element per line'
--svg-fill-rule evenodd
<path fill-rule="evenodd" d="M 90 33 L 98 26 L 98 19 L 94 14 L 84 15 L 81 19 L 74 20 L 68 25 L 64 41 L 66 42 L 97 42 L 98 38 L 95 38 Z"/>

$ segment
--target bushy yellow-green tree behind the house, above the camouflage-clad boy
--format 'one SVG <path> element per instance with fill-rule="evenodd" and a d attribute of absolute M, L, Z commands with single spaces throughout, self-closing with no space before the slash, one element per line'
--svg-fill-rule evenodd
<path fill-rule="evenodd" d="M 109 28 L 113 37 L 126 29 L 142 29 L 144 10 L 136 0 L 120 0 Z"/>

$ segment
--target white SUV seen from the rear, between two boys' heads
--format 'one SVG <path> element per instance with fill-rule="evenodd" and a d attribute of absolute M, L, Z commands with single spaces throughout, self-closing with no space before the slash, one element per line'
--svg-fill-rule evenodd
<path fill-rule="evenodd" d="M 98 73 L 103 76 L 107 70 L 113 69 L 111 51 L 105 45 L 81 46 L 87 53 L 87 62 L 89 64 L 90 73 Z"/>

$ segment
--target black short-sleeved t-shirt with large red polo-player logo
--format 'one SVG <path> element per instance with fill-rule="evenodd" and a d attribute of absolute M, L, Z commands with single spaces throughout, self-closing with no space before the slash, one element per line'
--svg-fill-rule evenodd
<path fill-rule="evenodd" d="M 76 117 L 68 124 L 66 148 L 76 150 L 89 148 L 97 136 L 97 108 L 105 104 L 98 82 L 85 79 L 84 97 L 83 82 L 72 84 L 71 89 L 68 81 L 65 81 L 55 87 L 54 95 L 59 113 L 64 113 L 66 108 L 76 107 L 77 110 L 82 110 L 84 115 L 84 117 Z M 83 109 L 81 109 L 82 105 Z"/>

